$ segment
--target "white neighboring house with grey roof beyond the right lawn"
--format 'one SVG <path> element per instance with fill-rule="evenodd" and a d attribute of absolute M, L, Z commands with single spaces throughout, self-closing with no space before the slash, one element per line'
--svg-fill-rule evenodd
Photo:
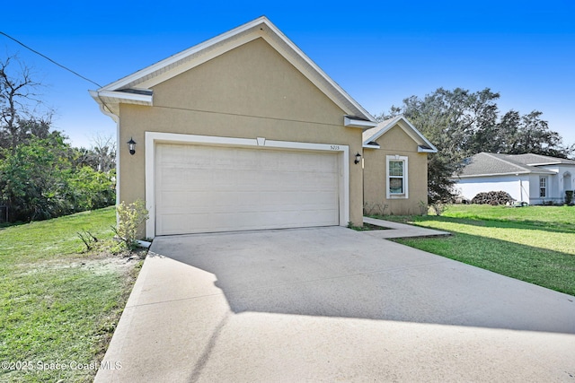
<path fill-rule="evenodd" d="M 575 188 L 575 161 L 539 154 L 480 152 L 466 161 L 456 186 L 466 199 L 481 192 L 505 191 L 531 205 L 562 203 Z"/>

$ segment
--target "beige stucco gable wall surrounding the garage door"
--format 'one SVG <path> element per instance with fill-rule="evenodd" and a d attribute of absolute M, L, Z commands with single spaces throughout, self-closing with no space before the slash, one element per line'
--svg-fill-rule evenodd
<path fill-rule="evenodd" d="M 349 145 L 349 217 L 362 223 L 361 129 L 303 74 L 256 39 L 153 88 L 154 106 L 120 105 L 119 200 L 145 198 L 145 132 Z M 347 223 L 347 222 L 343 222 Z"/>

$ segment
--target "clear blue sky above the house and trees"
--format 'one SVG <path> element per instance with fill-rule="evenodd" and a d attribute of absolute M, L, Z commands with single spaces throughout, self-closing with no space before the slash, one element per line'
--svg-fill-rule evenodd
<path fill-rule="evenodd" d="M 84 4 L 85 3 L 85 4 Z M 89 4 L 88 4 L 89 3 Z M 376 115 L 438 87 L 501 94 L 502 112 L 542 111 L 575 143 L 575 2 L 29 1 L 3 4 L 0 30 L 106 85 L 263 14 Z M 6 16 L 8 15 L 8 16 Z M 0 36 L 47 86 L 54 127 L 75 146 L 115 136 L 85 82 Z"/>

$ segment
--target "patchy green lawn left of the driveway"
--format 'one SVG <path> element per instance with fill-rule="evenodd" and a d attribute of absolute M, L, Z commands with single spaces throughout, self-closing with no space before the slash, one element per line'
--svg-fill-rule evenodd
<path fill-rule="evenodd" d="M 113 224 L 110 207 L 0 228 L 0 361 L 33 368 L 3 368 L 0 381 L 93 380 L 93 369 L 39 363 L 102 359 L 141 264 L 111 255 Z M 100 239 L 97 250 L 83 252 L 81 230 Z"/>

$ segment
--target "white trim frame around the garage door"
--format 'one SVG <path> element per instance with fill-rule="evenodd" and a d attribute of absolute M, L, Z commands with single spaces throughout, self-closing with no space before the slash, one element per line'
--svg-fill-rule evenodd
<path fill-rule="evenodd" d="M 261 145 L 263 141 L 263 145 Z M 212 135 L 181 135 L 176 133 L 146 132 L 146 237 L 155 237 L 155 146 L 165 144 L 201 144 L 217 146 L 243 146 L 276 148 L 315 152 L 338 152 L 340 159 L 340 226 L 349 222 L 349 146 L 341 144 L 311 144 L 256 138 L 218 137 Z M 260 144 L 260 145 L 259 145 Z"/>

